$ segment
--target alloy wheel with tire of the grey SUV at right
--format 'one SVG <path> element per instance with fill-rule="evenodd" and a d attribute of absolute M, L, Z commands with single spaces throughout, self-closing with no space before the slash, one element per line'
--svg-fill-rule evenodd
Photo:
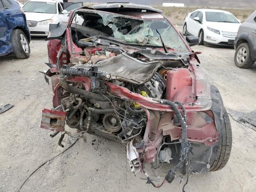
<path fill-rule="evenodd" d="M 254 64 L 248 43 L 242 43 L 236 48 L 234 60 L 239 68 L 250 68 Z"/>

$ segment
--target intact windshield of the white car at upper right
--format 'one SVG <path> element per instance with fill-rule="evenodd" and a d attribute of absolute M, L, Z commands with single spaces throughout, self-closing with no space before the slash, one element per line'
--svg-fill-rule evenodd
<path fill-rule="evenodd" d="M 234 15 L 226 12 L 206 12 L 206 21 L 239 23 Z"/>

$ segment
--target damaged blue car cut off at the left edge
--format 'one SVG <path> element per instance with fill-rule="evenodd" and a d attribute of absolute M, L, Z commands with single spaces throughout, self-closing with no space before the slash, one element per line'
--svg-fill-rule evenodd
<path fill-rule="evenodd" d="M 14 52 L 16 58 L 30 55 L 30 31 L 18 2 L 0 0 L 0 56 Z"/>

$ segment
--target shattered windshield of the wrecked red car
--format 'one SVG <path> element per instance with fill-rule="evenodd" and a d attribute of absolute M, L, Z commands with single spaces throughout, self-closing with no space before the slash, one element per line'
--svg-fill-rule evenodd
<path fill-rule="evenodd" d="M 161 35 L 165 46 L 178 52 L 188 52 L 184 41 L 168 20 L 163 17 L 159 19 L 140 19 L 106 12 L 97 12 L 94 14 L 99 15 L 100 18 L 92 14 L 86 14 L 84 15 L 86 20 L 84 26 L 104 32 L 108 36 L 118 38 L 123 42 L 135 43 L 142 46 L 151 44 L 162 47 Z"/>

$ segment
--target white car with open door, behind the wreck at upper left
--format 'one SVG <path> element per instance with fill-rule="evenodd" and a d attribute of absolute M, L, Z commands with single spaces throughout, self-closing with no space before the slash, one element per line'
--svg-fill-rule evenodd
<path fill-rule="evenodd" d="M 28 20 L 31 36 L 48 36 L 50 24 L 66 23 L 70 10 L 82 6 L 81 3 L 64 4 L 62 0 L 29 0 L 26 2 L 23 10 Z M 79 18 L 79 22 L 83 21 L 80 21 L 81 19 Z"/>

